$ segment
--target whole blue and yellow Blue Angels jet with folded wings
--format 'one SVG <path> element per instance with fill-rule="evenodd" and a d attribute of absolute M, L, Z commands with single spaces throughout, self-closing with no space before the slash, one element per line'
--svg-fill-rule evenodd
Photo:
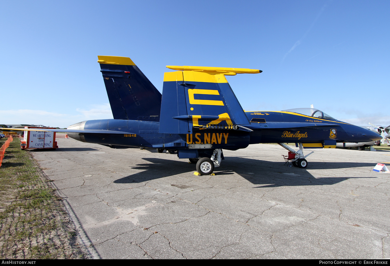
<path fill-rule="evenodd" d="M 177 151 L 196 163 L 201 175 L 213 173 L 223 149 L 278 143 L 293 152 L 293 165 L 306 168 L 304 148 L 335 148 L 336 142 L 368 142 L 382 137 L 314 108 L 280 112 L 245 112 L 225 75 L 261 73 L 247 68 L 167 66 L 163 93 L 130 58 L 98 56 L 114 119 L 89 120 L 68 129 L 21 129 L 67 132 L 82 142 L 115 147 Z M 296 143 L 295 151 L 284 143 Z"/>

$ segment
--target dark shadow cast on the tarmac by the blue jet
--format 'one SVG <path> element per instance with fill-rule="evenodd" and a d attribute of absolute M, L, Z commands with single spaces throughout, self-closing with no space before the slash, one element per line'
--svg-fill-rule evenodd
<path fill-rule="evenodd" d="M 114 183 L 140 183 L 161 177 L 178 175 L 196 171 L 195 164 L 185 163 L 161 158 L 142 158 L 150 163 L 129 166 L 133 169 L 144 170 L 121 179 Z M 307 169 L 340 169 L 370 166 L 375 163 L 349 163 L 349 162 L 309 162 Z M 315 178 L 306 169 L 288 167 L 284 162 L 271 162 L 242 157 L 225 157 L 220 167 L 215 168 L 215 175 L 239 174 L 256 187 L 280 187 L 280 186 L 318 186 L 332 185 L 349 178 L 368 177 L 321 177 Z M 375 177 L 371 177 L 375 178 Z M 254 187 L 254 188 L 256 188 Z"/>

